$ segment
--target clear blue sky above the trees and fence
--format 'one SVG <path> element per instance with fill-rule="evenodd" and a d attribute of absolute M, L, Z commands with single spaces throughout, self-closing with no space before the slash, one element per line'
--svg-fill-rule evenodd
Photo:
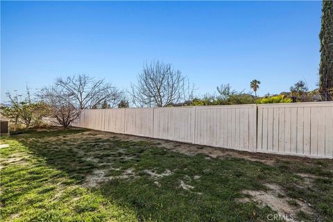
<path fill-rule="evenodd" d="M 121 89 L 147 60 L 171 62 L 196 94 L 230 83 L 259 95 L 318 82 L 321 1 L 1 1 L 1 101 L 26 83 L 89 74 Z"/>

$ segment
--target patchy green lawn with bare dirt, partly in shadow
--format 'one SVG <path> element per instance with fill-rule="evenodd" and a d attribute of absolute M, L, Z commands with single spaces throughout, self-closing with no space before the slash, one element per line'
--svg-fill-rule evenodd
<path fill-rule="evenodd" d="M 2 221 L 333 221 L 332 160 L 78 128 L 1 143 Z"/>

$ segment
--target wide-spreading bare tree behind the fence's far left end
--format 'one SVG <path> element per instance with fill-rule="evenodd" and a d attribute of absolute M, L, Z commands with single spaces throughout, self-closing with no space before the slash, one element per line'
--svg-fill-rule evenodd
<path fill-rule="evenodd" d="M 57 78 L 56 85 L 66 94 L 74 98 L 75 106 L 81 110 L 101 108 L 105 103 L 108 107 L 117 107 L 121 101 L 121 92 L 105 79 L 95 80 L 85 74 Z"/>

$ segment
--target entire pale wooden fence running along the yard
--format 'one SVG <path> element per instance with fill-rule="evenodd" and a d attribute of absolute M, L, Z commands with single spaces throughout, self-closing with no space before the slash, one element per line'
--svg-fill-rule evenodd
<path fill-rule="evenodd" d="M 241 151 L 333 157 L 333 103 L 84 110 L 73 126 Z"/>

